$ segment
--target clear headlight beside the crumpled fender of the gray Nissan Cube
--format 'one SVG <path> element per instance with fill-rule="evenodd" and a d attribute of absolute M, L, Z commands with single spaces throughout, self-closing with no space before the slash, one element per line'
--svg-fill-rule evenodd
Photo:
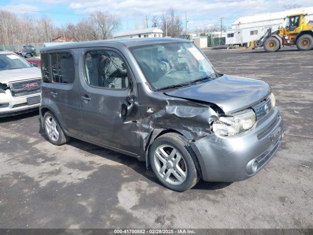
<path fill-rule="evenodd" d="M 255 123 L 256 117 L 252 109 L 245 109 L 233 116 L 220 117 L 213 121 L 212 131 L 221 136 L 234 136 L 250 129 Z"/>

